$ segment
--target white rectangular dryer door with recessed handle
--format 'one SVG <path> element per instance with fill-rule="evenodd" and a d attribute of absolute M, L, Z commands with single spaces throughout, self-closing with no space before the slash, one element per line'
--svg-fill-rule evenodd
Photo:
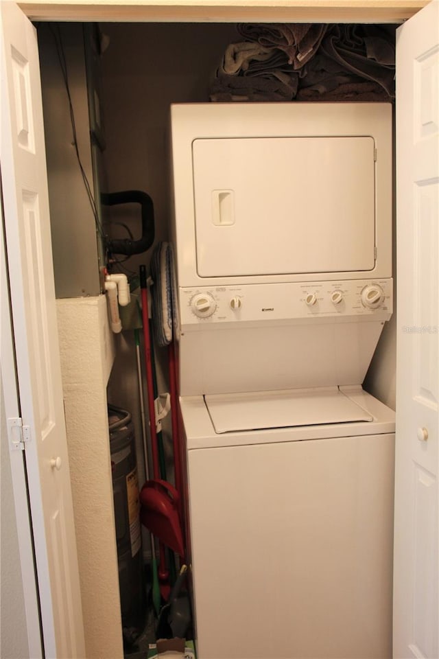
<path fill-rule="evenodd" d="M 375 141 L 195 139 L 200 277 L 375 267 Z"/>

